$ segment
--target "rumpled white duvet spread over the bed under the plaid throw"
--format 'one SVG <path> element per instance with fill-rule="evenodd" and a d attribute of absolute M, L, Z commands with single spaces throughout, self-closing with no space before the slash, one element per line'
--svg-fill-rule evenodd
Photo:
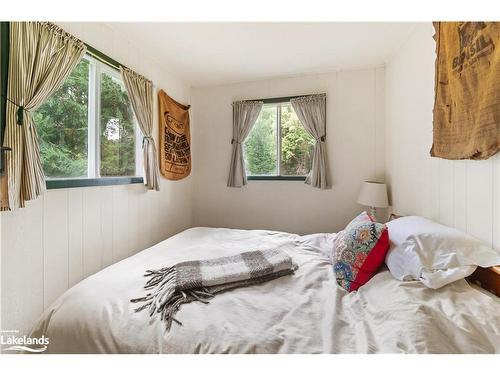
<path fill-rule="evenodd" d="M 49 353 L 492 353 L 500 352 L 500 299 L 459 280 L 438 290 L 381 271 L 358 292 L 337 286 L 333 234 L 192 228 L 74 286 L 32 332 Z M 146 269 L 281 247 L 293 276 L 193 302 L 169 332 L 135 313 Z"/>

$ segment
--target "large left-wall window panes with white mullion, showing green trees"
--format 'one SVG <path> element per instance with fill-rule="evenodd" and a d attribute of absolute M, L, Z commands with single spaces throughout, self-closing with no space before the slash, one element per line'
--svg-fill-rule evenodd
<path fill-rule="evenodd" d="M 33 117 L 47 180 L 141 171 L 139 130 L 125 86 L 103 62 L 85 56 Z"/>

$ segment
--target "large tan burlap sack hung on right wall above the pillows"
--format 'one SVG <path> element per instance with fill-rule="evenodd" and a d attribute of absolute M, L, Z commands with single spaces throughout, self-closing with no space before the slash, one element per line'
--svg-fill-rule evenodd
<path fill-rule="evenodd" d="M 488 159 L 500 150 L 500 23 L 435 22 L 431 155 Z"/>

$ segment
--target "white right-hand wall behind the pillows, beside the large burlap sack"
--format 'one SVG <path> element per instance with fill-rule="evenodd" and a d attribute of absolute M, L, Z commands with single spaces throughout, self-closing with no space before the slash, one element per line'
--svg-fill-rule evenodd
<path fill-rule="evenodd" d="M 434 33 L 421 24 L 386 66 L 386 179 L 392 205 L 500 247 L 500 155 L 431 158 Z"/>

